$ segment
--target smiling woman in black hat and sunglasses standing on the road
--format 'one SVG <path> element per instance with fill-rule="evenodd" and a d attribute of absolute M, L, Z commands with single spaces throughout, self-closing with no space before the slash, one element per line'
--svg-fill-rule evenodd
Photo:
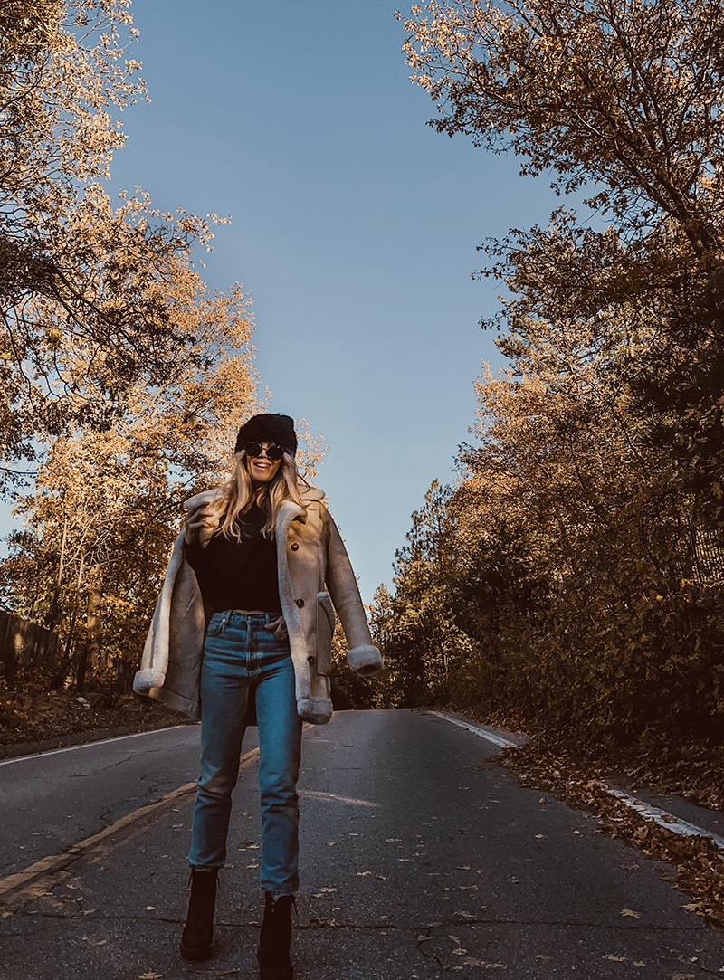
<path fill-rule="evenodd" d="M 201 716 L 191 897 L 180 944 L 191 960 L 214 950 L 217 873 L 226 857 L 247 710 L 256 703 L 265 891 L 261 980 L 294 976 L 289 946 L 299 887 L 302 723 L 324 724 L 332 716 L 334 610 L 352 668 L 372 673 L 382 666 L 339 531 L 322 493 L 299 476 L 296 451 L 290 417 L 254 416 L 239 429 L 226 483 L 186 502 L 185 530 L 134 685 Z"/>

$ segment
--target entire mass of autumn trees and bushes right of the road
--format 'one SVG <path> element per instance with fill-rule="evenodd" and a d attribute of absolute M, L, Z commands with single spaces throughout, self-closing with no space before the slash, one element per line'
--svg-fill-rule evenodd
<path fill-rule="evenodd" d="M 431 0 L 406 25 L 431 124 L 512 150 L 561 193 L 593 187 L 594 217 L 560 208 L 484 246 L 481 274 L 508 287 L 510 368 L 477 385 L 446 562 L 429 536 L 399 556 L 380 643 L 417 685 L 409 703 L 452 700 L 599 749 L 714 739 L 724 8 Z M 454 638 L 442 682 L 443 644 L 408 625 L 422 610 Z"/>

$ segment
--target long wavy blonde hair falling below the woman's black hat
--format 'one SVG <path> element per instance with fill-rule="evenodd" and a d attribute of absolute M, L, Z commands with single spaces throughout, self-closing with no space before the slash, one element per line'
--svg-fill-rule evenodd
<path fill-rule="evenodd" d="M 273 480 L 258 487 L 254 486 L 245 461 L 246 453 L 243 449 L 234 453 L 234 468 L 223 484 L 219 498 L 221 519 L 215 533 L 241 541 L 243 535 L 238 518 L 248 514 L 257 504 L 265 515 L 262 534 L 265 538 L 273 538 L 282 501 L 293 500 L 304 508 L 300 488 L 309 490 L 310 485 L 300 475 L 291 453 L 284 453 Z"/>

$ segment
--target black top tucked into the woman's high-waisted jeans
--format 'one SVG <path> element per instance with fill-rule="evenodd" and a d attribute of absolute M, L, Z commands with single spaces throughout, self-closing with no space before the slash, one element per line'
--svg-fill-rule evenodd
<path fill-rule="evenodd" d="M 204 603 L 212 613 L 281 613 L 276 542 L 263 537 L 264 522 L 265 515 L 254 505 L 239 521 L 241 541 L 215 534 L 205 548 L 184 545 L 186 561 L 194 569 Z"/>

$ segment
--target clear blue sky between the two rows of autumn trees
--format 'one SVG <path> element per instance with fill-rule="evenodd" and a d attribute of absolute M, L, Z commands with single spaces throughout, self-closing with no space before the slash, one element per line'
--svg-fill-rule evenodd
<path fill-rule="evenodd" d="M 152 101 L 124 114 L 113 168 L 162 210 L 231 215 L 206 279 L 252 293 L 271 411 L 329 444 L 317 482 L 365 601 L 431 481 L 453 478 L 481 359 L 501 363 L 478 325 L 501 287 L 470 277 L 476 246 L 555 206 L 514 158 L 424 124 L 394 10 L 134 0 Z"/>

